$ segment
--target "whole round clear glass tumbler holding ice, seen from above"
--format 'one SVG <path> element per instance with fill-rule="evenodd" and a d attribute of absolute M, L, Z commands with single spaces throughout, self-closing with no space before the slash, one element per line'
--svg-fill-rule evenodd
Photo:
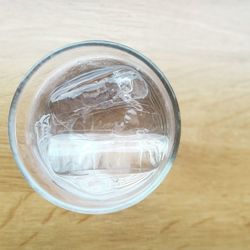
<path fill-rule="evenodd" d="M 53 51 L 21 81 L 9 140 L 30 186 L 62 208 L 111 213 L 168 174 L 180 115 L 163 73 L 139 52 L 85 41 Z"/>

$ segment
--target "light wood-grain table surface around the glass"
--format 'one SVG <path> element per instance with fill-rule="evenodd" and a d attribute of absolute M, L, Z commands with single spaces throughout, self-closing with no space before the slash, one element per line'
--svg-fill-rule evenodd
<path fill-rule="evenodd" d="M 0 0 L 0 249 L 250 249 L 250 2 Z M 25 72 L 64 44 L 105 39 L 151 58 L 177 95 L 182 137 L 140 204 L 90 216 L 26 183 L 7 116 Z"/>

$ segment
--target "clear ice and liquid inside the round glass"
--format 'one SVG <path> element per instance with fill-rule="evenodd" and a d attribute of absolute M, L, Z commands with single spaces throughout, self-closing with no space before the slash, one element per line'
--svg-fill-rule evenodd
<path fill-rule="evenodd" d="M 168 150 L 164 109 L 152 81 L 129 65 L 107 62 L 53 76 L 60 84 L 48 88 L 34 128 L 51 178 L 91 199 L 142 185 Z"/>

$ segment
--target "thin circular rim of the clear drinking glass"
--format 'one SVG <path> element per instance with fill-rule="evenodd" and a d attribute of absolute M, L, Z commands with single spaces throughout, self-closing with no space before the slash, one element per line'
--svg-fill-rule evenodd
<path fill-rule="evenodd" d="M 129 199 L 123 204 L 118 204 L 112 207 L 108 208 L 84 208 L 81 206 L 76 206 L 69 204 L 67 202 L 64 202 L 56 197 L 54 197 L 52 194 L 50 194 L 48 191 L 46 191 L 43 187 L 41 187 L 35 178 L 32 177 L 32 175 L 29 173 L 29 171 L 26 169 L 22 158 L 20 157 L 20 153 L 18 150 L 18 145 L 16 141 L 16 109 L 19 101 L 19 97 L 22 93 L 23 88 L 29 81 L 29 79 L 33 76 L 33 74 L 39 70 L 40 67 L 43 66 L 47 61 L 53 59 L 58 54 L 61 54 L 65 51 L 79 48 L 79 47 L 88 47 L 88 46 L 103 46 L 103 47 L 109 47 L 117 50 L 121 50 L 123 52 L 126 52 L 137 59 L 141 60 L 143 63 L 145 63 L 153 72 L 159 77 L 161 80 L 163 86 L 167 90 L 167 93 L 169 95 L 169 98 L 171 100 L 171 103 L 173 105 L 173 113 L 174 113 L 174 120 L 175 120 L 175 135 L 174 135 L 174 143 L 173 143 L 173 149 L 171 152 L 171 155 L 166 163 L 166 165 L 163 167 L 163 170 L 160 172 L 159 176 L 155 178 L 155 180 L 148 185 L 148 187 L 143 190 L 139 195 L 133 197 L 132 199 Z M 61 47 L 59 49 L 53 50 L 47 55 L 45 55 L 42 59 L 40 59 L 37 63 L 33 65 L 33 67 L 30 68 L 30 70 L 24 75 L 22 78 L 19 86 L 17 87 L 15 94 L 13 96 L 10 110 L 9 110 L 9 117 L 8 117 L 8 136 L 9 136 L 9 144 L 12 151 L 12 155 L 14 160 L 16 161 L 16 164 L 18 168 L 20 169 L 22 175 L 28 182 L 28 184 L 33 188 L 34 191 L 36 191 L 39 195 L 41 195 L 44 199 L 51 202 L 52 204 L 59 206 L 61 208 L 64 208 L 66 210 L 70 210 L 73 212 L 83 213 L 83 214 L 106 214 L 106 213 L 113 213 L 118 212 L 120 210 L 123 210 L 125 208 L 131 207 L 143 199 L 145 199 L 149 194 L 151 194 L 165 179 L 168 172 L 170 171 L 173 162 L 176 158 L 176 154 L 178 151 L 178 147 L 180 144 L 180 135 L 181 135 L 181 119 L 180 119 L 180 111 L 179 111 L 179 105 L 175 96 L 175 93 L 165 77 L 165 75 L 161 72 L 161 70 L 147 57 L 142 55 L 140 52 L 126 46 L 120 43 L 111 42 L 111 41 L 105 41 L 105 40 L 87 40 L 87 41 L 81 41 L 77 43 L 71 43 L 67 44 L 64 47 Z"/>

